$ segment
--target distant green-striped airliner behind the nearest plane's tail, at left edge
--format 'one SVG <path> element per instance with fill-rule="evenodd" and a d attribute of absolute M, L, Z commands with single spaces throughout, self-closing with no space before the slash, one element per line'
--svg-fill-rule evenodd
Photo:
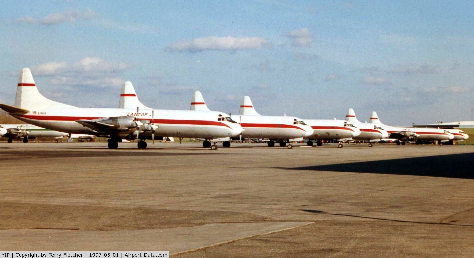
<path fill-rule="evenodd" d="M 6 133 L 2 137 L 8 137 L 7 142 L 13 142 L 13 138 L 23 138 L 23 142 L 28 142 L 28 139 L 36 137 L 54 137 L 63 138 L 67 133 L 53 131 L 31 124 L 2 124 Z M 1 137 L 1 134 L 0 134 Z"/>

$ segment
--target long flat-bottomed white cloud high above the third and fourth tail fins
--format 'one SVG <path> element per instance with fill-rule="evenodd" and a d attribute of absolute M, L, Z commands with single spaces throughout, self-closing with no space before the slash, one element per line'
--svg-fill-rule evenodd
<path fill-rule="evenodd" d="M 168 51 L 242 50 L 260 49 L 270 44 L 263 37 L 198 37 L 191 41 L 180 40 L 166 47 Z"/>

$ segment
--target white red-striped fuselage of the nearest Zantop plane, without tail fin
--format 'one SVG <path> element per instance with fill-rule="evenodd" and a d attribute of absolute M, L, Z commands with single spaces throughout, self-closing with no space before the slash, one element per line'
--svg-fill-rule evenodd
<path fill-rule="evenodd" d="M 235 123 L 218 121 L 220 112 L 208 111 L 201 113 L 200 111 L 155 110 L 153 122 L 158 126 L 158 129 L 155 130 L 155 136 L 223 138 L 238 136 L 238 134 L 240 134 L 238 129 L 233 130 L 232 128 L 235 127 Z M 98 135 L 91 129 L 75 122 L 75 120 L 94 120 L 120 116 L 137 116 L 137 111 L 131 109 L 76 107 L 59 110 L 43 108 L 16 117 L 25 122 L 47 129 L 74 134 Z M 138 120 L 151 121 L 151 110 L 140 111 Z M 238 127 L 240 128 L 240 126 Z M 151 131 L 146 131 L 142 135 L 151 136 Z"/>

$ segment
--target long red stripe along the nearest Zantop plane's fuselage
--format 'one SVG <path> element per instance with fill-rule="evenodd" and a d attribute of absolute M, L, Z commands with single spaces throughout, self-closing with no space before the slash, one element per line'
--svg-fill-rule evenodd
<path fill-rule="evenodd" d="M 101 117 L 63 117 L 63 116 L 32 116 L 32 115 L 23 115 L 21 117 L 34 120 L 46 120 L 46 121 L 75 121 L 80 119 L 94 120 Z M 138 120 L 150 120 L 147 118 L 139 118 Z M 225 126 L 232 129 L 225 123 L 218 121 L 208 121 L 208 120 L 177 120 L 177 119 L 155 119 L 153 120 L 155 124 L 180 124 L 180 125 L 215 125 L 215 126 Z"/>

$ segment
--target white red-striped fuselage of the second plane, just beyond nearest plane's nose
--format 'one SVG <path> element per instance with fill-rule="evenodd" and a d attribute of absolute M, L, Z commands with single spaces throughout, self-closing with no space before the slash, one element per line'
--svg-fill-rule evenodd
<path fill-rule="evenodd" d="M 307 125 L 293 124 L 293 117 L 283 116 L 231 116 L 245 130 L 246 138 L 295 139 L 306 138 L 311 133 Z"/>

